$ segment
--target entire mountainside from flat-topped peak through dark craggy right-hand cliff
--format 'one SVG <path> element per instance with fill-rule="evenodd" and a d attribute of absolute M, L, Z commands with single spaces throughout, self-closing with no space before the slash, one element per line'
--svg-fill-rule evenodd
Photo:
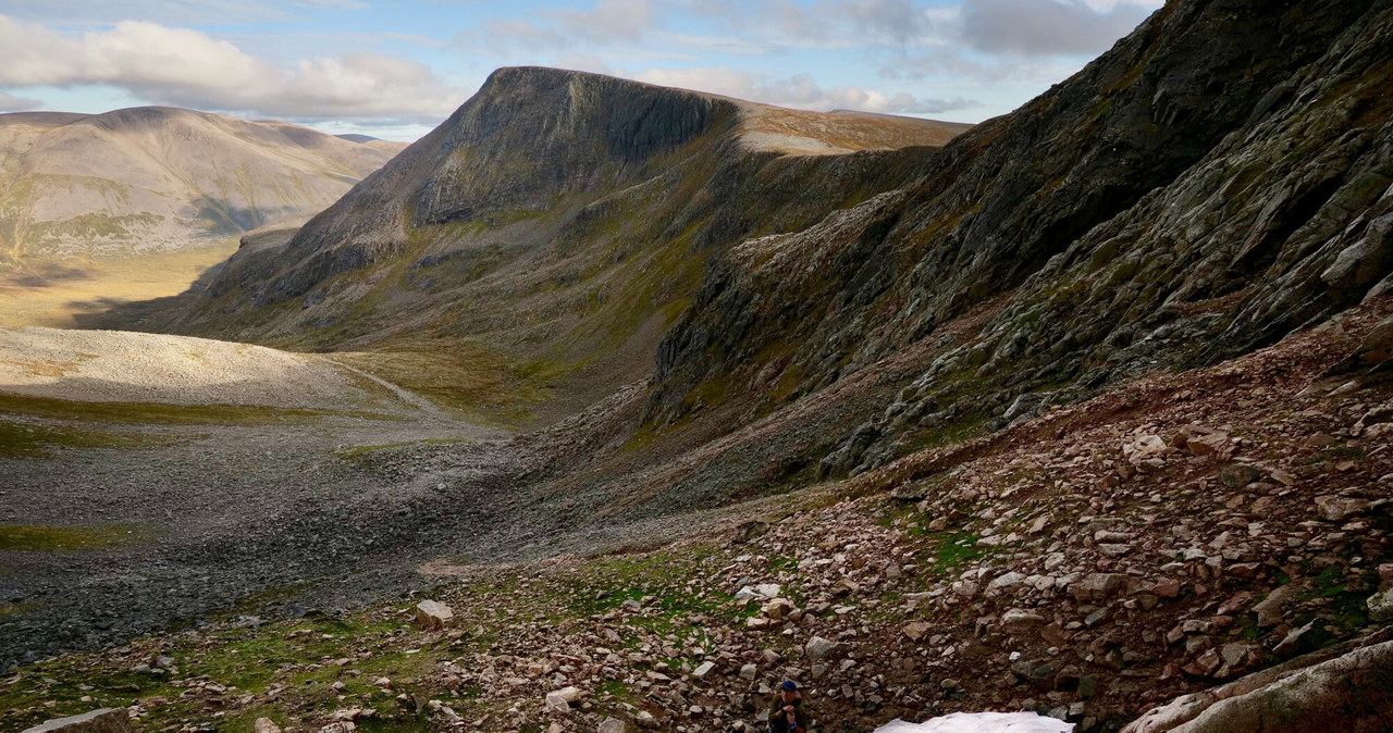
<path fill-rule="evenodd" d="M 566 414 L 642 380 L 625 430 L 705 467 L 639 504 L 855 474 L 1386 292 L 1389 32 L 1369 0 L 1173 1 L 967 131 L 500 70 L 162 327 L 465 341 Z"/>

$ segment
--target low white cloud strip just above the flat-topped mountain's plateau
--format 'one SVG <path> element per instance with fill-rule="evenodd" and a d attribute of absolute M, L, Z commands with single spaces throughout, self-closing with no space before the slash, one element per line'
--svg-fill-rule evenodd
<path fill-rule="evenodd" d="M 904 92 L 886 95 L 875 89 L 836 86 L 823 89 L 808 74 L 783 79 L 756 79 L 734 68 L 648 70 L 634 78 L 663 86 L 696 89 L 765 104 L 800 110 L 858 110 L 886 114 L 937 114 L 963 110 L 975 103 L 965 99 L 921 99 Z"/>

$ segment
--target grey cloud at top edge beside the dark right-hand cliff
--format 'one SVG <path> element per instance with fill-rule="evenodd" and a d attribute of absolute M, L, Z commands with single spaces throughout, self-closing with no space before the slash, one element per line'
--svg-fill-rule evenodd
<path fill-rule="evenodd" d="M 963 39 L 1007 56 L 1094 54 L 1153 10 L 1153 3 L 1084 0 L 965 0 Z"/>

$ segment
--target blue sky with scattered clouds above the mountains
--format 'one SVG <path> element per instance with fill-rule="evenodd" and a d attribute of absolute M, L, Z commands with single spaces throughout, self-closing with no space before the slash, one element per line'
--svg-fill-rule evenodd
<path fill-rule="evenodd" d="M 979 122 L 1162 0 L 0 0 L 0 113 L 166 104 L 414 140 L 497 67 Z"/>

